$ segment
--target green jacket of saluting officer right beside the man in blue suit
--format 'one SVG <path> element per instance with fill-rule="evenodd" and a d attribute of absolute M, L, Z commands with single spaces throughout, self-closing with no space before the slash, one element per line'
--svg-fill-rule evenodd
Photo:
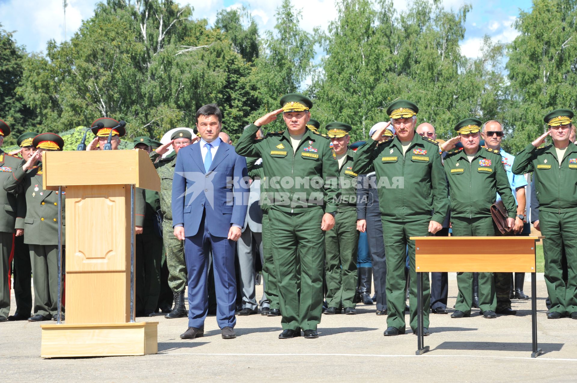
<path fill-rule="evenodd" d="M 257 139 L 257 130 L 250 124 L 235 150 L 241 156 L 263 158 L 264 188 L 271 208 L 290 213 L 316 208 L 335 212 L 339 166 L 332 157 L 329 139 L 306 129 L 294 153 L 288 131 L 267 133 Z"/>

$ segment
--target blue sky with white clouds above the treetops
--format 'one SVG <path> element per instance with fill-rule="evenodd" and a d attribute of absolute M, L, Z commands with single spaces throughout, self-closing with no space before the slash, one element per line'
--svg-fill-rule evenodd
<path fill-rule="evenodd" d="M 208 18 L 213 22 L 216 13 L 225 7 L 245 6 L 250 10 L 261 30 L 272 29 L 275 9 L 281 0 L 181 0 L 194 7 L 195 18 Z M 403 9 L 406 1 L 393 0 L 396 9 Z M 466 34 L 461 41 L 464 55 L 477 56 L 485 34 L 503 43 L 509 43 L 517 35 L 512 22 L 519 16 L 519 9 L 530 10 L 530 0 L 442 0 L 447 8 L 458 9 L 464 3 L 473 5 L 467 15 Z M 92 16 L 95 0 L 68 0 L 66 8 L 66 35 L 77 31 L 82 20 Z M 336 17 L 334 0 L 307 0 L 299 2 L 303 8 L 302 27 L 312 31 L 315 26 L 326 29 Z M 305 7 L 306 6 L 306 7 Z M 60 42 L 64 36 L 62 0 L 0 0 L 0 23 L 3 29 L 17 31 L 18 44 L 26 45 L 28 51 L 43 51 L 46 41 Z"/>

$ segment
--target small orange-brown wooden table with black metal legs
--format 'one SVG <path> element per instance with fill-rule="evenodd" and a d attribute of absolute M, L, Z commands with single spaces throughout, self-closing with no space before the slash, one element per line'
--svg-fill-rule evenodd
<path fill-rule="evenodd" d="M 415 240 L 417 271 L 417 351 L 429 351 L 423 335 L 424 272 L 530 272 L 531 273 L 531 358 L 542 354 L 537 344 L 537 280 L 535 242 L 545 237 L 411 237 Z"/>

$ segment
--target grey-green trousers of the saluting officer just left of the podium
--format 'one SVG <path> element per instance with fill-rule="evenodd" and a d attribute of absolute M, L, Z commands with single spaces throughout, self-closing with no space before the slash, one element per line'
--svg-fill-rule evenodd
<path fill-rule="evenodd" d="M 33 314 L 52 319 L 58 312 L 58 245 L 28 245 L 28 248 L 34 284 Z M 61 270 L 64 270 L 63 262 Z"/>

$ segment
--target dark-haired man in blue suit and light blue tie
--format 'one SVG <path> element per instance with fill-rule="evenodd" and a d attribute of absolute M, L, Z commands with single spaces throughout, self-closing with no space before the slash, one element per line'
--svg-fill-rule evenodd
<path fill-rule="evenodd" d="M 241 236 L 248 200 L 246 160 L 219 138 L 222 113 L 218 105 L 196 112 L 200 141 L 183 147 L 174 169 L 172 206 L 174 235 L 184 240 L 188 271 L 188 329 L 181 339 L 204 334 L 208 313 L 208 257 L 216 290 L 216 321 L 223 339 L 236 338 L 234 325 L 237 281 L 235 241 Z"/>

